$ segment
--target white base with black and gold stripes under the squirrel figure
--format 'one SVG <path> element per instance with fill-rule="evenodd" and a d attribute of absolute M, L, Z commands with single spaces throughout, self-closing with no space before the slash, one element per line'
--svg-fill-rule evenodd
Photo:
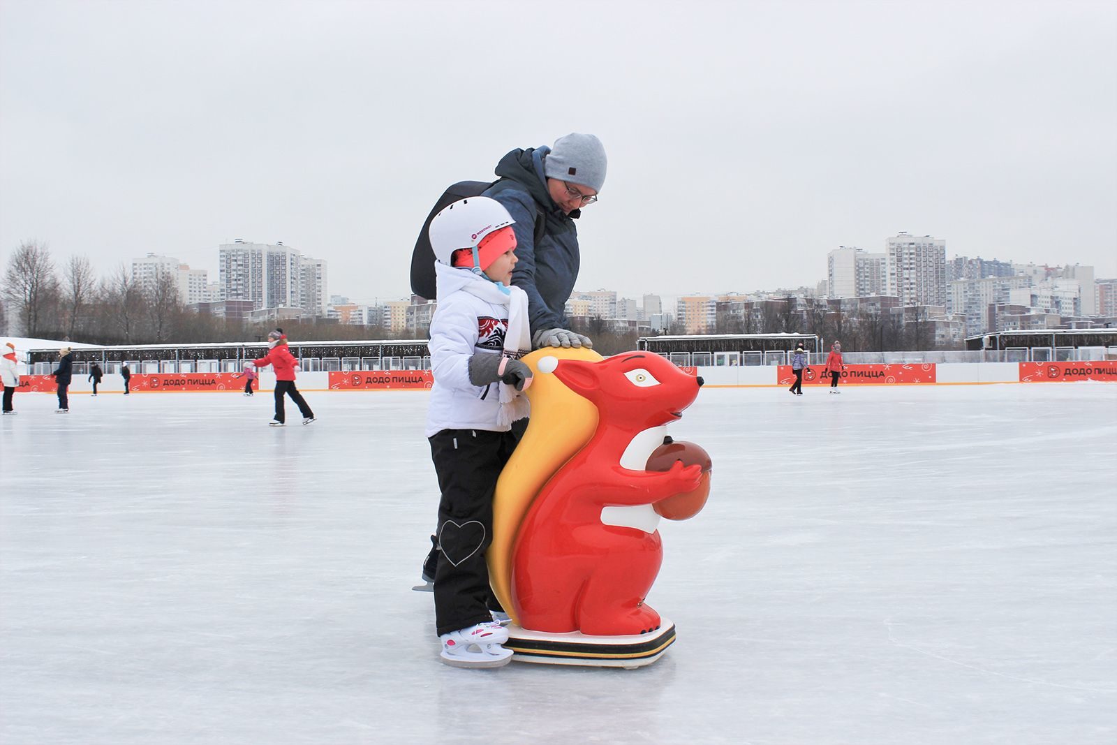
<path fill-rule="evenodd" d="M 650 633 L 621 637 L 548 633 L 512 624 L 504 647 L 515 652 L 513 659 L 518 662 L 631 669 L 658 660 L 675 639 L 675 624 L 666 618 L 660 618 L 660 627 Z"/>

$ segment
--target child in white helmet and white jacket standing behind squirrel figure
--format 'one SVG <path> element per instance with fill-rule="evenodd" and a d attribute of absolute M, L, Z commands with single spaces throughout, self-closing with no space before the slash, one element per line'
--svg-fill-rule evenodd
<path fill-rule="evenodd" d="M 438 475 L 435 627 L 441 659 L 494 668 L 512 660 L 508 631 L 494 620 L 485 551 L 493 493 L 516 445 L 512 422 L 528 414 L 527 295 L 512 287 L 514 220 L 499 202 L 471 197 L 435 216 L 438 311 L 430 325 L 435 385 L 426 434 Z"/>

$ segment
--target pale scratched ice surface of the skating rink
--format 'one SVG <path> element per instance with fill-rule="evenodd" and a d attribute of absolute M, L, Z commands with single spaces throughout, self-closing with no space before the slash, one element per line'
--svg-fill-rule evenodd
<path fill-rule="evenodd" d="M 638 670 L 439 662 L 427 394 L 306 398 L 17 394 L 0 742 L 1117 741 L 1117 385 L 703 391 Z"/>

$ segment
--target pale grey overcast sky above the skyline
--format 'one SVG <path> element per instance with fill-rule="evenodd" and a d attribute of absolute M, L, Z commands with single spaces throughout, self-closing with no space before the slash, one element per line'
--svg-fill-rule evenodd
<path fill-rule="evenodd" d="M 900 230 L 1114 277 L 1115 8 L 0 0 L 0 260 L 283 241 L 405 297 L 446 185 L 577 131 L 579 289 L 814 285 Z"/>

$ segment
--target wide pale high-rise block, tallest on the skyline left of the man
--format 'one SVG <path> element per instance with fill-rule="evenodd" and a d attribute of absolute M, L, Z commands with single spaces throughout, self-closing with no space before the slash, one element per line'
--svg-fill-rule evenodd
<path fill-rule="evenodd" d="M 251 300 L 260 308 L 302 308 L 323 315 L 326 308 L 326 262 L 303 256 L 281 242 L 252 243 L 237 239 L 218 248 L 218 283 L 222 300 Z"/>

